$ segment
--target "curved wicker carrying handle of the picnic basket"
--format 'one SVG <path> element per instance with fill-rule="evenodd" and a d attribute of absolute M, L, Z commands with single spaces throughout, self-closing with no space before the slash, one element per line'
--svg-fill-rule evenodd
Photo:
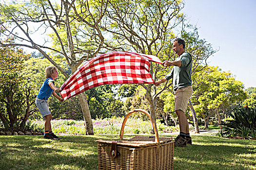
<path fill-rule="evenodd" d="M 125 116 L 125 118 L 123 119 L 123 124 L 122 124 L 122 128 L 121 128 L 121 131 L 120 131 L 120 140 L 123 139 L 123 133 L 124 133 L 124 126 L 125 126 L 125 123 L 127 121 L 127 119 L 129 118 L 129 116 L 135 112 L 142 112 L 144 113 L 145 115 L 147 115 L 150 119 L 150 121 L 152 122 L 153 124 L 153 128 L 154 128 L 154 131 L 155 131 L 155 135 L 156 135 L 156 140 L 155 142 L 159 144 L 159 137 L 158 137 L 158 128 L 157 128 L 157 124 L 155 122 L 155 120 L 153 120 L 150 116 L 150 114 L 143 110 L 143 109 L 134 109 L 134 110 L 131 110 L 130 112 L 128 112 L 128 114 Z"/>

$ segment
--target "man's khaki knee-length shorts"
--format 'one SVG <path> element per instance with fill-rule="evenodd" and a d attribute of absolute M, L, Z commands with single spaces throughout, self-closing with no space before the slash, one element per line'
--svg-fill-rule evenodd
<path fill-rule="evenodd" d="M 177 89 L 175 92 L 175 111 L 182 110 L 184 113 L 186 112 L 188 100 L 191 98 L 192 92 L 191 85 Z"/>

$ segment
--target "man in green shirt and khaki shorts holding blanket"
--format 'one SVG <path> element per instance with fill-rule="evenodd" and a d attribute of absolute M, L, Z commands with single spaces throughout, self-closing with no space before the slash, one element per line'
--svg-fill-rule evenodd
<path fill-rule="evenodd" d="M 173 89 L 175 91 L 175 112 L 179 122 L 179 136 L 175 139 L 175 146 L 185 147 L 191 145 L 188 120 L 185 115 L 188 101 L 192 95 L 192 56 L 185 52 L 185 42 L 176 38 L 173 42 L 173 51 L 178 55 L 175 61 L 164 61 L 164 67 L 174 66 L 171 72 L 163 79 L 155 83 L 156 86 L 173 78 Z"/>

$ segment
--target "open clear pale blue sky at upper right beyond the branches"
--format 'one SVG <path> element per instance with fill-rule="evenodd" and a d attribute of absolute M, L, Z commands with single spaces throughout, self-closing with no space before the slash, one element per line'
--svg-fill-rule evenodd
<path fill-rule="evenodd" d="M 199 38 L 219 49 L 209 65 L 256 87 L 256 0 L 185 0 L 183 13 Z"/>

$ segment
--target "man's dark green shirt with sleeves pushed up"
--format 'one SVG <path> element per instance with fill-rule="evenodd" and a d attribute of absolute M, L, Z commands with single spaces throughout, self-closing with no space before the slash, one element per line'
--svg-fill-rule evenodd
<path fill-rule="evenodd" d="M 191 72 L 192 72 L 192 57 L 190 53 L 183 52 L 175 61 L 181 61 L 181 66 L 174 66 L 169 74 L 165 76 L 167 80 L 173 78 L 173 89 L 176 91 L 192 85 Z"/>

